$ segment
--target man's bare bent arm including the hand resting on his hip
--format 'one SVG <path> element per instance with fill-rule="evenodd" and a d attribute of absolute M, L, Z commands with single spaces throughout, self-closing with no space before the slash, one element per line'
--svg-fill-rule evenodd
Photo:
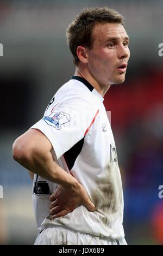
<path fill-rule="evenodd" d="M 95 205 L 91 203 L 82 184 L 57 164 L 52 156 L 52 149 L 52 144 L 45 135 L 39 130 L 30 129 L 15 140 L 12 154 L 18 163 L 31 172 L 30 176 L 35 173 L 48 181 L 61 185 L 58 186 L 59 190 L 55 190 L 53 194 L 56 199 L 55 203 L 59 204 L 58 210 L 53 205 L 55 211 L 52 211 L 52 214 L 57 213 L 55 217 L 64 216 L 81 204 L 90 211 L 94 210 Z M 62 204 L 59 199 L 60 189 L 64 191 L 64 197 L 61 196 Z M 51 199 L 54 200 L 53 197 Z"/>

